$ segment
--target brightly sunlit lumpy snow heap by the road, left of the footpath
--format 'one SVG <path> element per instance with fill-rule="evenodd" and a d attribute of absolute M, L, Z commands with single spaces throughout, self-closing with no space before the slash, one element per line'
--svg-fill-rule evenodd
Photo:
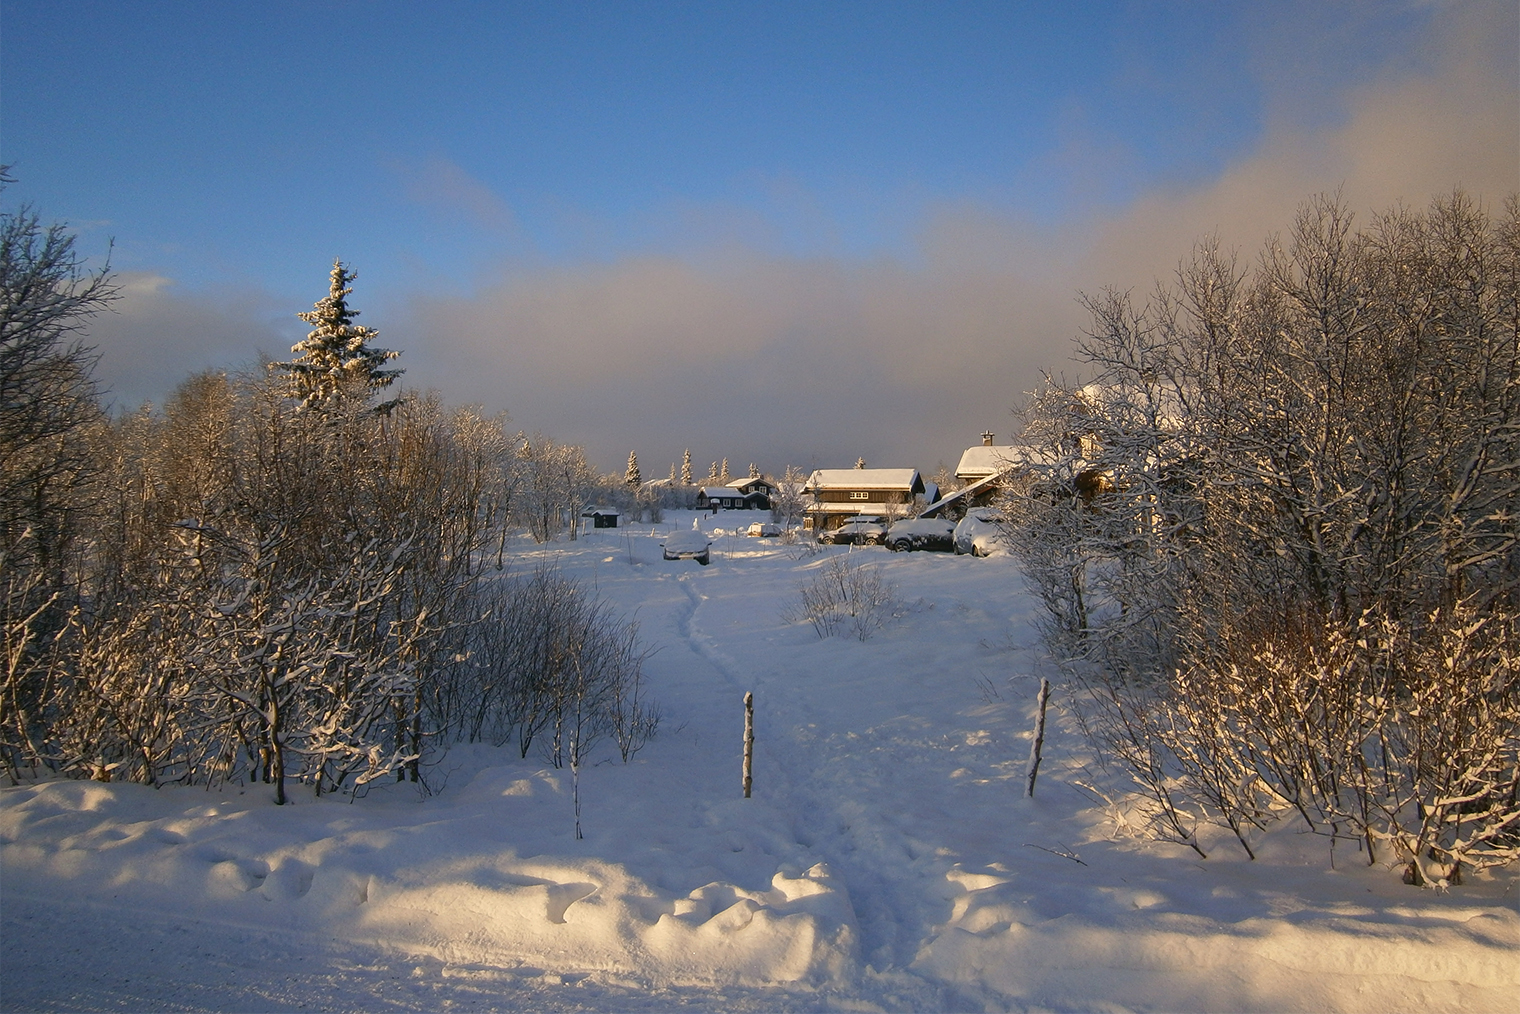
<path fill-rule="evenodd" d="M 502 862 L 421 883 L 371 882 L 356 932 L 453 964 L 546 965 L 660 984 L 842 982 L 854 917 L 819 863 L 771 891 L 708 883 L 670 897 L 616 863 Z"/>

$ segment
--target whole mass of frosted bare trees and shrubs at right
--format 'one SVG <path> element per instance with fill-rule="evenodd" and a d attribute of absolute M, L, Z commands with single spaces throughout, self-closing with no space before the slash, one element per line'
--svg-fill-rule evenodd
<path fill-rule="evenodd" d="M 1520 856 L 1520 207 L 1304 207 L 1087 299 L 1012 544 L 1152 830 L 1284 818 L 1412 883 Z"/>

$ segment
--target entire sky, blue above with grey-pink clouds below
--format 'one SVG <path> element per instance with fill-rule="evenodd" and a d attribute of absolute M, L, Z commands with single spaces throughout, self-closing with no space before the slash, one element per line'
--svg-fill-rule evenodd
<path fill-rule="evenodd" d="M 283 354 L 342 257 L 412 383 L 605 468 L 932 470 L 1062 366 L 1079 289 L 1316 190 L 1497 205 L 1517 35 L 1508 3 L 8 0 L 0 160 L 8 207 L 114 240 L 122 403 Z"/>

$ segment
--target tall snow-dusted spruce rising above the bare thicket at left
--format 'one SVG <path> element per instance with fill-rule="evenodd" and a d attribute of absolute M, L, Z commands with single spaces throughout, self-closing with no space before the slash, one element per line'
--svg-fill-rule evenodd
<path fill-rule="evenodd" d="M 271 363 L 272 369 L 287 375 L 289 394 L 302 409 L 328 410 L 344 397 L 366 401 L 395 383 L 403 372 L 385 368 L 400 353 L 374 348 L 369 342 L 377 331 L 354 324 L 359 310 L 348 307 L 348 296 L 353 293 L 350 283 L 357 277 L 357 272 L 334 260 L 327 296 L 312 310 L 296 315 L 313 325 L 304 341 L 290 347 L 292 353 L 298 353 L 296 357 L 290 362 Z M 394 406 L 395 400 L 375 407 L 389 412 Z"/>

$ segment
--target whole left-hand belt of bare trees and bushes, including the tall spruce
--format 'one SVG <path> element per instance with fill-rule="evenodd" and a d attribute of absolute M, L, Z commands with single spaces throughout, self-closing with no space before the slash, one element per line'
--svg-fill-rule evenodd
<path fill-rule="evenodd" d="M 503 572 L 594 494 L 584 453 L 436 397 L 348 306 L 287 363 L 111 420 L 81 342 L 114 298 L 71 237 L 0 222 L 0 763 L 146 784 L 426 784 L 456 740 L 579 766 L 654 733 L 637 625 Z"/>

